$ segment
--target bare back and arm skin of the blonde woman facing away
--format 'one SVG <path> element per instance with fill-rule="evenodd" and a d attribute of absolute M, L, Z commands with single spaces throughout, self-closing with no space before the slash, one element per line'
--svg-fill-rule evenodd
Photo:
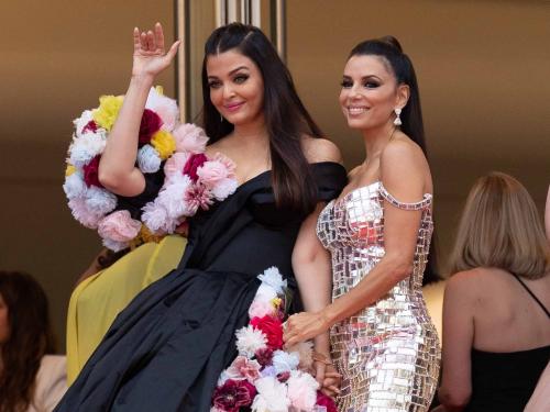
<path fill-rule="evenodd" d="M 550 307 L 550 276 L 522 280 Z M 453 275 L 443 300 L 442 405 L 438 411 L 458 412 L 468 405 L 472 396 L 472 347 L 508 353 L 549 344 L 546 313 L 510 274 L 475 268 Z"/>

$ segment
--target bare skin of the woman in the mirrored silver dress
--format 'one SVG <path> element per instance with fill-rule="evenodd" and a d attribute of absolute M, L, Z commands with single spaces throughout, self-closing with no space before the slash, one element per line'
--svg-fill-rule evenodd
<path fill-rule="evenodd" d="M 422 151 L 393 124 L 394 109 L 404 108 L 408 101 L 408 86 L 398 85 L 377 56 L 351 57 L 342 86 L 342 111 L 350 127 L 362 133 L 367 157 L 350 172 L 350 182 L 340 198 L 377 180 L 402 202 L 416 202 L 431 193 L 431 175 Z M 413 269 L 420 218 L 420 211 L 404 211 L 385 202 L 384 257 L 355 288 L 326 308 L 290 316 L 285 342 L 293 345 L 326 333 L 407 278 Z"/>

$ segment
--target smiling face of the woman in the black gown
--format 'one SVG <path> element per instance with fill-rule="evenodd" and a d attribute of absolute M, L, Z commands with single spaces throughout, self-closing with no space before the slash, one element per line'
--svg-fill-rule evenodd
<path fill-rule="evenodd" d="M 257 66 L 235 49 L 207 60 L 210 100 L 234 125 L 263 122 L 264 81 Z"/>

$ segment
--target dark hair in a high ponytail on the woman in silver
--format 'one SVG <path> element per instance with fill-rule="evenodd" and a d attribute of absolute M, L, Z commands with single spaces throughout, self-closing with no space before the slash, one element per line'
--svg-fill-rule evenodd
<path fill-rule="evenodd" d="M 350 53 L 353 56 L 380 56 L 389 66 L 398 85 L 407 85 L 410 96 L 403 108 L 402 131 L 416 142 L 426 154 L 426 140 L 424 135 L 422 110 L 420 108 L 420 92 L 416 79 L 415 68 L 410 58 L 403 53 L 402 45 L 393 36 L 384 36 L 361 42 Z"/>

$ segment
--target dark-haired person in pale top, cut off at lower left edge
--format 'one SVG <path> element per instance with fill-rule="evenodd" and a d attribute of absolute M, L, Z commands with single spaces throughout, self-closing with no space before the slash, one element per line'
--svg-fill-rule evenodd
<path fill-rule="evenodd" d="M 44 290 L 30 275 L 0 271 L 0 412 L 52 411 L 66 390 Z"/>

